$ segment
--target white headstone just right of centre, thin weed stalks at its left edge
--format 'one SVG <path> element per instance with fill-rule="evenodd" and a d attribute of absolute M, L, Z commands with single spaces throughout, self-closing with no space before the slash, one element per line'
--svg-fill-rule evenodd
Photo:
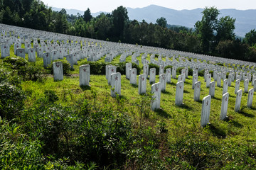
<path fill-rule="evenodd" d="M 161 101 L 160 83 L 156 83 L 151 86 L 151 94 L 152 94 L 151 110 L 155 111 L 156 109 L 160 108 L 160 101 Z"/>

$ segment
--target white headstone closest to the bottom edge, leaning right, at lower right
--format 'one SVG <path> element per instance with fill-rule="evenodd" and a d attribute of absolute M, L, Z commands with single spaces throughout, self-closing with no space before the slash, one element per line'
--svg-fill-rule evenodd
<path fill-rule="evenodd" d="M 203 98 L 202 101 L 202 112 L 201 112 L 201 126 L 204 127 L 209 123 L 210 120 L 210 95 Z"/>

